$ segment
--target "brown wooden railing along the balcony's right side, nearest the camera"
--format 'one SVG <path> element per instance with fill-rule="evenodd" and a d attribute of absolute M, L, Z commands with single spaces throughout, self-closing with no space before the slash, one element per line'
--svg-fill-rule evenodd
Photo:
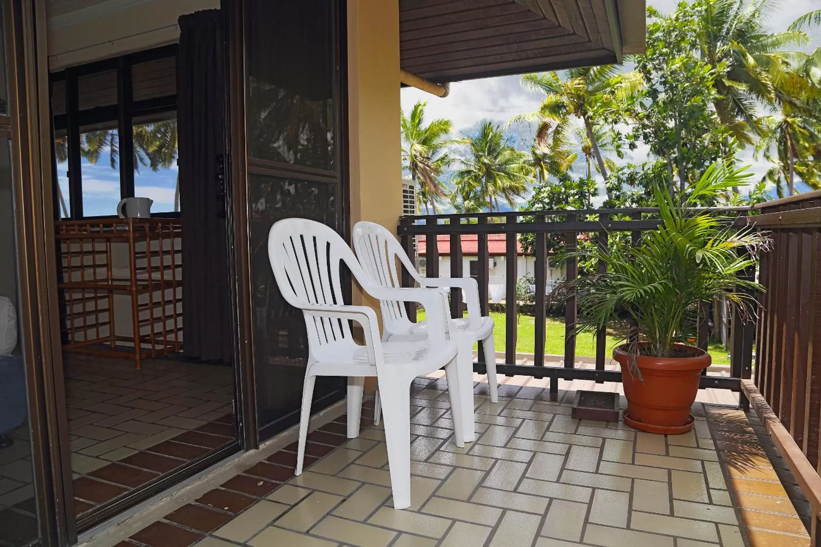
<path fill-rule="evenodd" d="M 754 383 L 745 394 L 813 509 L 821 545 L 821 191 L 762 203 L 750 226 L 772 233 L 760 258 Z"/>

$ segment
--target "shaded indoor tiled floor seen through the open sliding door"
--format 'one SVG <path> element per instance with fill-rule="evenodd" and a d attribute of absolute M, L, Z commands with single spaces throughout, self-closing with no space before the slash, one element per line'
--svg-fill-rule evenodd
<path fill-rule="evenodd" d="M 76 513 L 234 440 L 231 367 L 172 358 L 64 360 Z"/>

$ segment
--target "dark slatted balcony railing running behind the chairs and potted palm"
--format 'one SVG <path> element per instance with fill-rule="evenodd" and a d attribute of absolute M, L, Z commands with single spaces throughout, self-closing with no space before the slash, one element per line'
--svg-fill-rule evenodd
<path fill-rule="evenodd" d="M 732 215 L 736 217 L 737 226 L 747 225 L 747 216 L 750 207 L 713 207 L 703 209 L 705 212 L 715 214 Z M 640 240 L 643 230 L 652 230 L 658 226 L 656 215 L 658 209 L 655 208 L 632 208 L 632 209 L 593 209 L 589 211 L 565 210 L 565 211 L 536 211 L 536 212 L 499 212 L 499 213 L 467 213 L 452 215 L 424 215 L 401 217 L 397 233 L 401 238 L 407 253 L 413 257 L 416 249 L 416 239 L 425 238 L 433 244 L 426 245 L 427 271 L 429 277 L 438 277 L 439 272 L 439 252 L 437 235 L 449 235 L 451 271 L 452 277 L 464 275 L 462 267 L 461 235 L 477 235 L 478 239 L 478 276 L 479 300 L 483 313 L 488 312 L 488 235 L 505 235 L 505 255 L 507 261 L 507 271 L 505 280 L 506 294 L 506 332 L 504 340 L 505 359 L 504 363 L 497 364 L 497 371 L 507 376 L 521 375 L 534 376 L 536 378 L 548 377 L 550 379 L 550 391 L 557 393 L 558 381 L 564 380 L 593 380 L 621 381 L 621 372 L 606 370 L 605 363 L 609 362 L 610 356 L 607 354 L 607 333 L 601 330 L 596 333 L 596 361 L 594 368 L 576 367 L 576 340 L 573 335 L 573 325 L 578 317 L 576 297 L 567 299 L 565 304 L 565 344 L 563 355 L 563 367 L 548 367 L 544 363 L 545 347 L 545 281 L 548 267 L 548 256 L 546 253 L 545 241 L 548 235 L 560 235 L 566 240 L 566 248 L 576 248 L 581 234 L 585 234 L 590 240 L 598 241 L 599 244 L 607 244 L 608 238 L 617 232 L 626 232 L 631 235 L 631 243 L 635 244 Z M 554 220 L 559 219 L 559 220 Z M 521 234 L 534 235 L 534 260 L 536 286 L 535 306 L 534 306 L 534 364 L 516 364 L 516 318 L 519 310 L 516 305 L 516 241 Z M 601 271 L 605 266 L 599 264 Z M 566 276 L 573 278 L 578 276 L 579 269 L 576 258 L 569 258 L 566 262 Z M 745 276 L 754 277 L 754 269 L 745 272 Z M 405 277 L 405 283 L 410 284 L 410 276 Z M 410 317 L 415 317 L 415 312 L 409 308 Z M 454 294 L 451 299 L 451 311 L 453 317 L 461 313 L 461 295 Z M 723 388 L 733 391 L 741 391 L 741 379 L 750 378 L 752 368 L 752 349 L 754 342 L 754 324 L 743 324 L 736 321 L 732 328 L 731 347 L 731 371 L 730 376 L 703 376 L 701 387 Z M 708 345 L 708 322 L 705 308 L 699 314 L 699 328 L 697 344 L 700 348 L 707 349 Z M 497 340 L 497 349 L 501 348 L 500 340 Z M 819 348 L 821 349 L 821 348 Z M 485 372 L 484 356 L 479 350 L 479 362 L 475 363 L 477 372 Z M 746 404 L 746 399 L 742 394 L 741 403 Z"/>

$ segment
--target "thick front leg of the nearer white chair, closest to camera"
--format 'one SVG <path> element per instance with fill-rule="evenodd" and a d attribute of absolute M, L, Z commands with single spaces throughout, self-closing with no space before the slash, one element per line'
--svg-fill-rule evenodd
<path fill-rule="evenodd" d="M 393 508 L 410 507 L 410 382 L 379 378 Z"/>

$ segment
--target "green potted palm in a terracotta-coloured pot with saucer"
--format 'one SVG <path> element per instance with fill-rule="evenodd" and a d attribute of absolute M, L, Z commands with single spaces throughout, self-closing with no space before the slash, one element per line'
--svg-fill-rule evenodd
<path fill-rule="evenodd" d="M 654 189 L 658 228 L 645 232 L 635 246 L 572 253 L 602 261 L 607 271 L 563 281 L 553 292 L 556 299 L 577 294 L 577 332 L 631 317 L 634 335 L 613 349 L 613 358 L 621 364 L 625 422 L 637 429 L 690 431 L 699 376 L 710 365 L 709 353 L 686 344 L 700 303 L 724 297 L 742 319 L 756 312 L 750 293 L 763 288 L 740 274 L 767 247 L 768 235 L 695 208 L 743 185 L 749 176 L 744 170 L 717 163 L 681 195 Z"/>

